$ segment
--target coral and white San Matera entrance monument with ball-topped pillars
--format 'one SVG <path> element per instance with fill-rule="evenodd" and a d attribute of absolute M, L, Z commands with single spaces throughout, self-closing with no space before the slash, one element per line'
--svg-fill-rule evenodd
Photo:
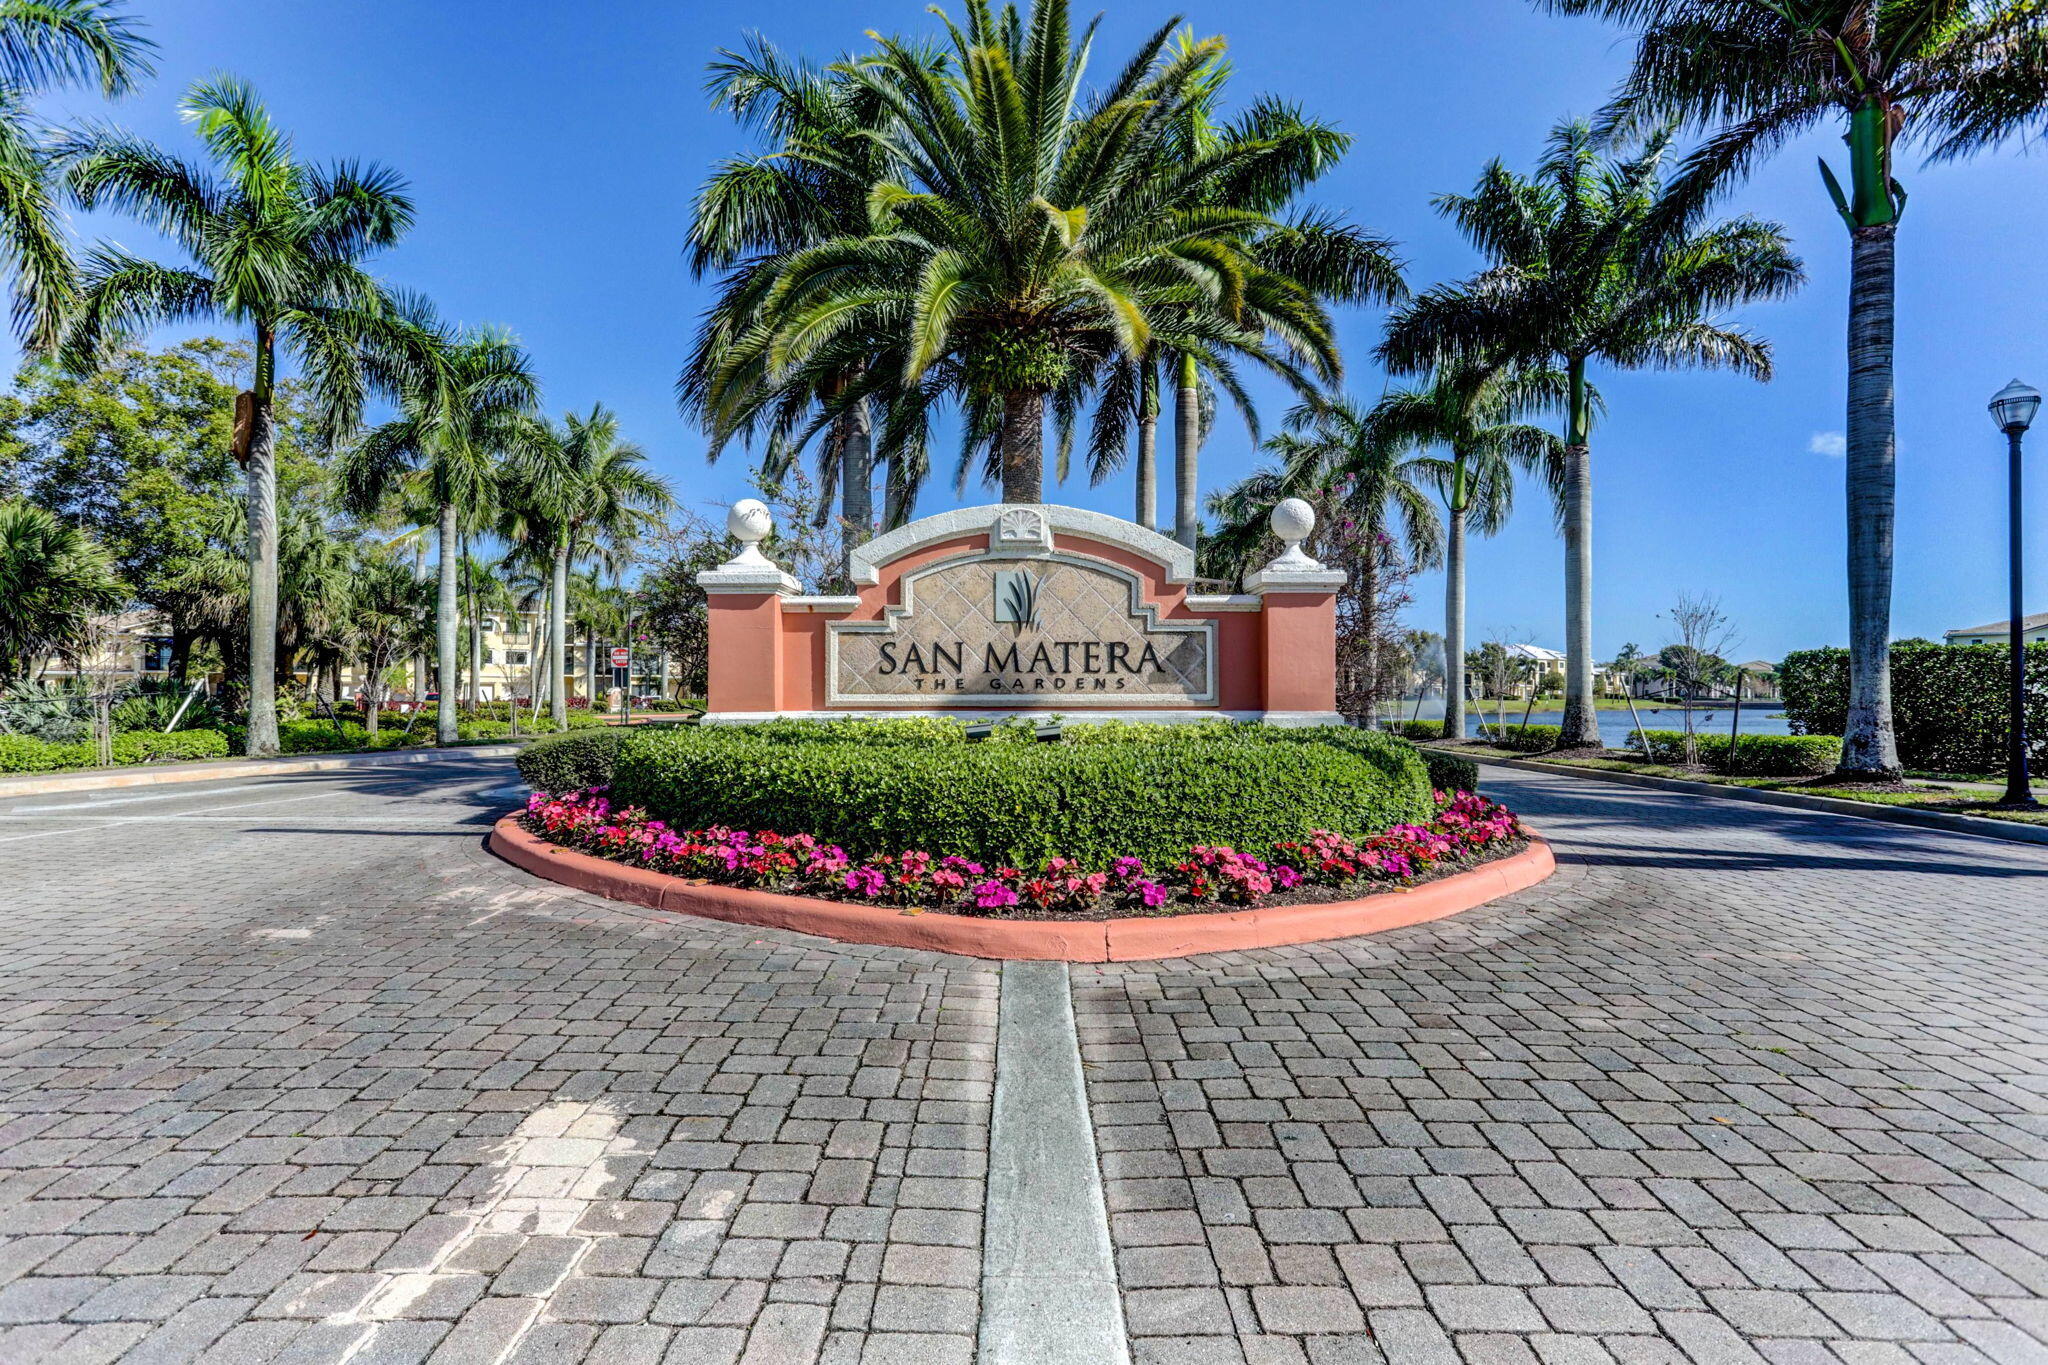
<path fill-rule="evenodd" d="M 1243 593 L 1204 593 L 1194 553 L 1100 512 L 1006 503 L 942 512 L 852 553 L 850 596 L 805 596 L 760 551 L 768 510 L 733 505 L 739 553 L 698 575 L 711 604 L 705 722 L 776 716 L 1061 712 L 1333 724 L 1335 593 L 1286 546 Z"/>

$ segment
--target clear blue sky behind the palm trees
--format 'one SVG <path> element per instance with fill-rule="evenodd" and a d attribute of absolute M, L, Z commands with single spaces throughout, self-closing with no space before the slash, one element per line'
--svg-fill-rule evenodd
<path fill-rule="evenodd" d="M 862 31 L 930 31 L 922 0 L 430 0 L 276 4 L 139 0 L 162 45 L 160 76 L 111 117 L 190 147 L 174 104 L 193 80 L 227 70 L 256 82 L 309 158 L 373 158 L 412 178 L 420 221 L 381 260 L 444 313 L 510 325 L 532 350 L 547 407 L 604 401 L 686 501 L 745 493 L 745 454 L 717 467 L 674 409 L 672 385 L 709 284 L 690 278 L 682 231 L 696 184 L 739 137 L 702 98 L 702 68 L 758 29 L 786 49 L 831 57 Z M 1092 12 L 1077 4 L 1077 12 Z M 1116 0 L 1098 59 L 1174 10 Z M 1270 90 L 1358 137 L 1317 199 L 1401 241 L 1423 287 L 1475 256 L 1430 196 L 1466 188 L 1487 158 L 1528 166 L 1548 125 L 1591 113 L 1626 59 L 1614 31 L 1548 18 L 1520 0 L 1206 0 L 1188 6 L 1221 33 L 1241 96 Z M 109 113 L 92 100 L 53 113 Z M 1839 151 L 1815 137 L 1767 166 L 1731 211 L 1776 217 L 1806 258 L 1808 284 L 1743 321 L 1772 338 L 1778 379 L 1602 375 L 1610 417 L 1595 434 L 1595 651 L 1669 639 L 1659 612 L 1679 591 L 1714 591 L 1737 622 L 1737 657 L 1845 641 L 1843 313 L 1847 239 L 1815 172 Z M 1903 166 L 1913 194 L 1898 248 L 1898 589 L 1894 632 L 2005 614 L 2003 442 L 1987 397 L 2013 375 L 2048 385 L 2038 317 L 2048 301 L 2040 233 L 2048 166 L 2019 153 L 1964 166 Z M 131 223 L 92 219 L 127 246 Z M 1343 319 L 1350 385 L 1376 395 L 1378 311 Z M 1262 389 L 1268 420 L 1286 399 Z M 2048 430 L 2042 434 L 2048 446 Z M 1235 420 L 1204 450 L 1204 493 L 1257 456 Z M 950 456 L 948 456 L 950 463 Z M 2048 458 L 2032 463 L 2030 575 L 2048 575 Z M 1130 510 L 1128 475 L 1069 483 L 1063 501 Z M 967 501 L 993 501 L 969 489 Z M 934 479 L 924 512 L 952 505 Z M 1563 643 L 1563 553 L 1546 505 L 1524 497 L 1516 524 L 1479 542 L 1470 567 L 1475 636 Z M 2040 610 L 2048 589 L 2036 589 Z M 1415 581 L 1415 624 L 1442 626 L 1442 579 Z"/>

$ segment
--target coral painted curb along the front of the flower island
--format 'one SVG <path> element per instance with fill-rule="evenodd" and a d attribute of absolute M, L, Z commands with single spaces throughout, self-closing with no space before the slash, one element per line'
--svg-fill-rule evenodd
<path fill-rule="evenodd" d="M 1530 835 L 1530 845 L 1520 853 L 1436 882 L 1423 882 L 1413 890 L 1386 890 L 1358 900 L 1270 905 L 1210 915 L 1063 921 L 981 919 L 940 911 L 909 915 L 897 907 L 688 882 L 549 843 L 522 829 L 516 814 L 498 821 L 489 843 L 492 851 L 514 868 L 610 900 L 741 925 L 795 929 L 844 943 L 924 948 L 963 958 L 1028 962 L 1151 962 L 1241 948 L 1348 939 L 1444 919 L 1534 886 L 1556 870 L 1550 845 Z"/>

